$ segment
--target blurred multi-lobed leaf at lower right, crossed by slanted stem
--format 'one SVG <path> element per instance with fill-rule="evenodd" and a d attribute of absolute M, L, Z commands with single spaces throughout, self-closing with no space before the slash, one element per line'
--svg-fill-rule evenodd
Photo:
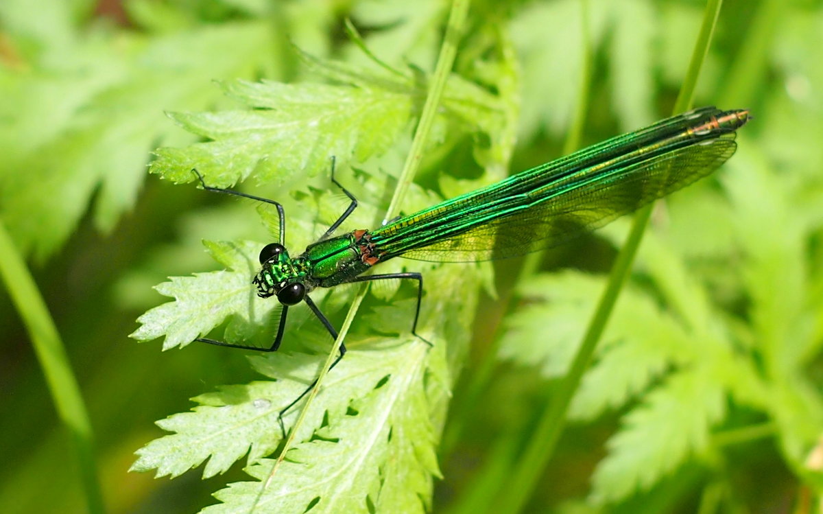
<path fill-rule="evenodd" d="M 593 498 L 599 502 L 619 502 L 651 488 L 703 448 L 711 426 L 724 415 L 725 395 L 756 408 L 763 408 L 770 395 L 745 355 L 735 353 L 725 340 L 727 334 L 718 329 L 721 320 L 712 320 L 697 279 L 653 233 L 646 243 L 639 262 L 651 269 L 663 297 L 679 307 L 672 312 L 683 315 L 662 311 L 657 299 L 626 287 L 603 335 L 597 362 L 574 395 L 570 418 L 590 419 L 636 396 L 642 402 L 624 418 L 628 428 L 613 438 L 595 474 Z M 530 280 L 521 294 L 540 301 L 512 316 L 512 332 L 501 353 L 518 362 L 543 363 L 547 376 L 564 373 L 570 360 L 565 347 L 579 343 L 581 327 L 601 290 L 598 278 L 582 273 Z M 568 324 L 567 340 L 547 344 L 542 334 L 548 331 L 557 337 L 553 328 L 563 324 Z M 653 385 L 672 367 L 681 371 L 668 376 L 664 385 Z M 644 393 L 649 385 L 653 386 Z M 670 414 L 674 406 L 681 412 Z"/>

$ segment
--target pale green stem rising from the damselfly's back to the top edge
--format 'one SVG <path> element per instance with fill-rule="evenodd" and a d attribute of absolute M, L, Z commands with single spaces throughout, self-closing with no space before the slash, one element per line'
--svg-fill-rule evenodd
<path fill-rule="evenodd" d="M 435 123 L 435 114 L 437 114 L 437 108 L 440 105 L 440 98 L 443 96 L 446 80 L 452 72 L 454 57 L 458 52 L 458 42 L 461 35 L 463 35 L 463 26 L 466 25 L 468 6 L 469 0 L 453 0 L 452 2 L 449 23 L 446 26 L 443 44 L 440 46 L 435 74 L 431 77 L 429 94 L 425 98 L 420 123 L 417 124 L 412 147 L 409 149 L 406 162 L 400 173 L 397 188 L 394 189 L 394 196 L 392 201 L 388 203 L 384 224 L 400 212 L 402 199 L 406 196 L 406 191 L 409 185 L 412 184 L 412 180 L 414 180 L 417 168 L 420 167 L 425 141 L 428 139 L 432 124 Z"/>

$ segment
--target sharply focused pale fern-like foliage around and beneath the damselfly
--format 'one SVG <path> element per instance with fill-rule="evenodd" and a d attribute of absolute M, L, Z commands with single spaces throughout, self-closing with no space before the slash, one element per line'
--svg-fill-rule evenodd
<path fill-rule="evenodd" d="M 421 100 L 417 78 L 378 76 L 365 68 L 304 57 L 337 84 L 224 82 L 226 94 L 254 109 L 171 114 L 185 129 L 210 140 L 161 148 L 151 171 L 167 180 L 190 182 L 195 180 L 191 170 L 197 168 L 214 186 L 234 185 L 249 176 L 279 185 L 300 184 L 307 176 L 328 170 L 329 156 L 336 156 L 337 166 L 343 167 L 349 160 L 364 161 L 386 152 L 416 115 Z M 495 97 L 467 82 L 455 79 L 447 92 L 447 110 L 437 122 L 440 133 L 446 126 L 468 133 L 488 129 L 490 119 L 500 115 Z M 301 186 L 293 187 L 299 191 Z M 296 203 L 285 201 L 291 201 L 291 207 L 317 209 L 305 195 Z M 277 227 L 272 210 L 263 208 L 260 213 L 267 227 Z M 132 337 L 165 337 L 164 348 L 183 347 L 218 327 L 223 329 L 217 330 L 217 337 L 230 341 L 272 338 L 267 318 L 277 301 L 258 298 L 251 283 L 262 245 L 206 242 L 212 258 L 226 269 L 160 284 L 157 290 L 174 301 L 142 315 L 142 325 Z M 403 264 L 384 266 L 390 273 Z M 284 348 L 253 357 L 253 366 L 270 381 L 198 396 L 192 412 L 158 423 L 172 433 L 138 451 L 133 470 L 174 477 L 205 462 L 203 474 L 210 477 L 246 457 L 246 470 L 256 480 L 230 484 L 216 493 L 223 503 L 206 512 L 305 512 L 309 507 L 314 512 L 425 512 L 432 478 L 439 474 L 435 443 L 453 380 L 450 370 L 457 364 L 453 357 L 464 352 L 460 348 L 467 343 L 467 322 L 477 301 L 477 288 L 467 285 L 487 282 L 489 271 L 476 265 L 465 266 L 465 273 L 444 273 L 429 264 L 425 268 L 430 269 L 426 281 L 437 287 L 426 289 L 418 331 L 435 341 L 434 348 L 409 335 L 370 334 L 375 329 L 407 330 L 413 315 L 412 302 L 393 298 L 397 287 L 388 292 L 378 288 L 377 296 L 394 305 L 375 306 L 373 315 L 365 312 L 362 322 L 371 329 L 346 339 L 346 358 L 323 382 L 305 423 L 297 428 L 295 446 L 270 485 L 264 484 L 274 460 L 265 457 L 275 455 L 285 435 L 280 414 L 317 375 L 320 355 Z M 459 306 L 451 301 L 455 291 L 470 291 Z M 349 294 L 333 291 L 320 305 L 333 311 L 334 302 L 345 301 Z M 315 301 L 323 298 L 313 296 Z M 300 308 L 305 307 L 294 309 Z M 330 348 L 328 334 L 300 329 L 305 323 L 319 325 L 314 318 L 295 321 L 290 315 L 286 328 L 291 338 L 284 347 L 296 343 L 299 333 L 305 348 Z M 287 430 L 301 406 L 283 417 Z"/>

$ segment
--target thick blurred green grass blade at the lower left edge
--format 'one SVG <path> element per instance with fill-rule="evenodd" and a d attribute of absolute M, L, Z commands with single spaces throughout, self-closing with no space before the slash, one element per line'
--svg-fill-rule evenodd
<path fill-rule="evenodd" d="M 86 404 L 83 403 L 80 386 L 72 373 L 66 349 L 49 315 L 49 309 L 2 221 L 0 255 L 0 276 L 26 325 L 58 416 L 68 428 L 72 445 L 77 452 L 89 512 L 105 512 L 97 479 L 91 422 L 86 412 Z"/>

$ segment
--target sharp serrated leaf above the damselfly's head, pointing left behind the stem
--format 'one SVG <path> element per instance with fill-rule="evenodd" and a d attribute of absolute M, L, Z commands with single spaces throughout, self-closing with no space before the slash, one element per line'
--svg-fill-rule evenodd
<path fill-rule="evenodd" d="M 184 129 L 212 141 L 160 148 L 151 172 L 181 183 L 194 180 L 191 170 L 197 168 L 213 187 L 252 174 L 261 183 L 291 184 L 300 178 L 298 171 L 328 171 L 329 156 L 346 166 L 350 159 L 362 162 L 386 152 L 425 99 L 425 87 L 414 77 L 302 55 L 309 68 L 340 83 L 226 82 L 226 95 L 253 110 L 170 114 Z M 494 96 L 456 77 L 449 93 L 444 106 L 453 115 L 439 118 L 439 132 L 458 121 L 468 132 L 492 133 L 501 116 Z"/>

